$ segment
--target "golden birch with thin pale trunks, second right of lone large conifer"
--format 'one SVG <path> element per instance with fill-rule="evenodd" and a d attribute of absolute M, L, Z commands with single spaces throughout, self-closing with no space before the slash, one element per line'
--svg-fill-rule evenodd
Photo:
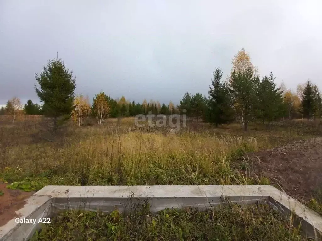
<path fill-rule="evenodd" d="M 93 99 L 92 110 L 99 125 L 102 125 L 105 118 L 109 115 L 110 107 L 106 98 L 107 96 L 104 92 L 100 92 L 99 94 L 96 94 Z"/>

